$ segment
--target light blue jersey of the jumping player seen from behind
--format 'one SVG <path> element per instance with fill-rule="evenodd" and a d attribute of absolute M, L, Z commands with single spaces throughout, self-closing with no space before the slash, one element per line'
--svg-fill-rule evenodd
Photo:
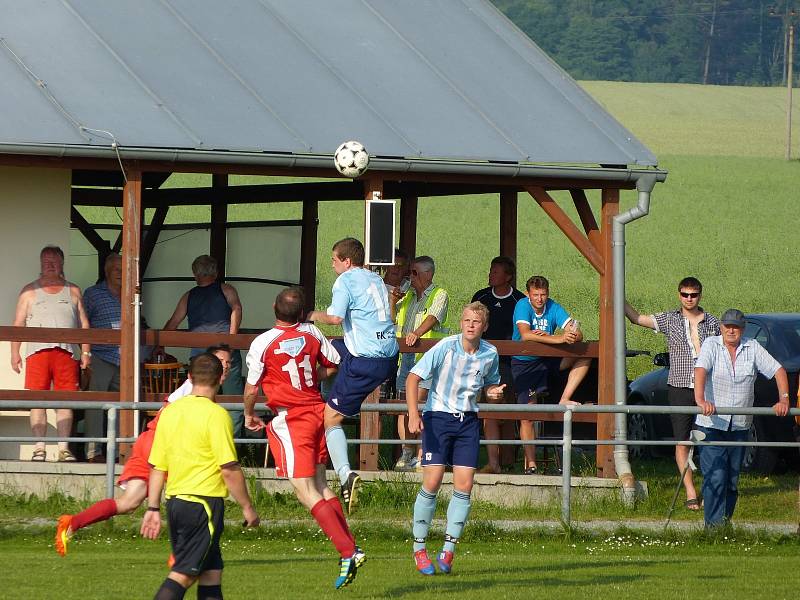
<path fill-rule="evenodd" d="M 328 314 L 344 319 L 344 344 L 353 356 L 391 358 L 399 352 L 386 286 L 372 271 L 355 267 L 339 275 Z"/>

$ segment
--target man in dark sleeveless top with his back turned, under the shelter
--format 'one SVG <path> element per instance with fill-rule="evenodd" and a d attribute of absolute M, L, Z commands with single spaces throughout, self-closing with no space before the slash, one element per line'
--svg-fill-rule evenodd
<path fill-rule="evenodd" d="M 207 254 L 198 256 L 192 262 L 192 274 L 197 286 L 181 296 L 175 312 L 164 325 L 164 329 L 177 329 L 183 319 L 188 317 L 189 331 L 239 333 L 239 326 L 242 323 L 242 303 L 235 287 L 217 281 L 217 260 Z M 191 356 L 197 356 L 202 352 L 202 349 L 196 348 L 192 350 Z M 232 395 L 244 393 L 242 354 L 239 350 L 231 353 L 231 368 L 222 384 L 222 393 Z M 229 412 L 233 420 L 233 436 L 241 437 L 244 413 L 241 410 Z"/>

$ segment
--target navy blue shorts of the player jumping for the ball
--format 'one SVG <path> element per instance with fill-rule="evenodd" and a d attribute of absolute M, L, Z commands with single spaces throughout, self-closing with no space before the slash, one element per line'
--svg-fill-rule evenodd
<path fill-rule="evenodd" d="M 328 406 L 345 417 L 354 417 L 361 412 L 364 399 L 395 373 L 397 355 L 391 358 L 353 356 L 344 340 L 332 340 L 331 344 L 342 360 L 328 395 Z"/>

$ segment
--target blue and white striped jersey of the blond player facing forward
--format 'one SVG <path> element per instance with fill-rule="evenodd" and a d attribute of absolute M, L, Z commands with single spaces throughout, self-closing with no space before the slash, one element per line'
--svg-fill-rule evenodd
<path fill-rule="evenodd" d="M 424 410 L 477 412 L 481 390 L 500 383 L 497 349 L 481 340 L 474 354 L 464 351 L 461 334 L 439 341 L 411 369 L 422 379 L 432 378 Z"/>

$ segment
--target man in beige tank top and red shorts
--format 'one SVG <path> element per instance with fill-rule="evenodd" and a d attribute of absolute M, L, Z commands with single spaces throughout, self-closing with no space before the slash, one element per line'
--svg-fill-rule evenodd
<path fill-rule="evenodd" d="M 63 327 L 88 329 L 89 320 L 83 309 L 81 290 L 64 279 L 64 252 L 58 246 L 45 246 L 39 254 L 39 278 L 24 288 L 17 301 L 15 327 Z M 11 342 L 11 368 L 22 368 L 21 342 Z M 27 342 L 25 352 L 25 389 L 78 389 L 78 366 L 85 369 L 91 363 L 89 344 L 78 349 L 77 344 L 58 342 Z M 47 414 L 43 408 L 32 408 L 31 432 L 34 437 L 47 435 Z M 58 437 L 69 437 L 72 431 L 72 410 L 56 409 Z M 58 442 L 58 460 L 74 461 L 67 442 Z M 36 442 L 31 460 L 47 457 L 44 441 Z"/>

